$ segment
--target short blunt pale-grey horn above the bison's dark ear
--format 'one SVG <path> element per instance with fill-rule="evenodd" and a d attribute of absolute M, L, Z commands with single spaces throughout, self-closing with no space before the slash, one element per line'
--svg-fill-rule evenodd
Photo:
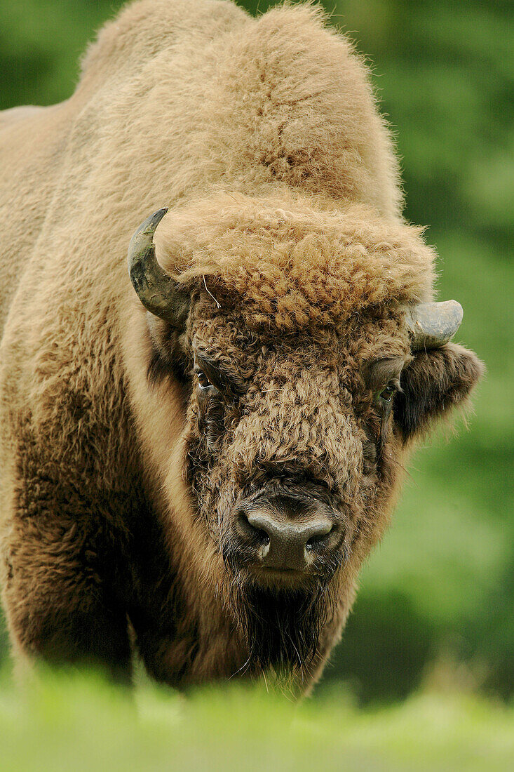
<path fill-rule="evenodd" d="M 448 343 L 462 322 L 462 306 L 456 300 L 418 303 L 405 317 L 411 334 L 411 350 L 439 348 Z"/>

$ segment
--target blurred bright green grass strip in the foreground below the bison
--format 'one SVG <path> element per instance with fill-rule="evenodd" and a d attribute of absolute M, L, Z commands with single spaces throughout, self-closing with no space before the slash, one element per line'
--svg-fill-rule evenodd
<path fill-rule="evenodd" d="M 46 672 L 22 694 L 2 679 L 0 770 L 502 770 L 514 709 L 424 693 L 358 710 L 338 687 L 299 705 L 264 688 L 187 697 Z"/>

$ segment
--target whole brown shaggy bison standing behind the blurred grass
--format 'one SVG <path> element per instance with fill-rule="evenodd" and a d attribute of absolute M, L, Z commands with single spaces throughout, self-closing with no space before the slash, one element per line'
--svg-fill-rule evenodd
<path fill-rule="evenodd" d="M 313 5 L 140 0 L 0 148 L 15 659 L 305 692 L 482 371 L 363 60 Z"/>

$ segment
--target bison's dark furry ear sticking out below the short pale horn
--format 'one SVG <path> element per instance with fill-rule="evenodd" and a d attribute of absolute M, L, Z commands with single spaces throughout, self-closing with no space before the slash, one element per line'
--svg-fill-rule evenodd
<path fill-rule="evenodd" d="M 405 441 L 468 397 L 484 366 L 472 351 L 446 344 L 420 351 L 401 373 L 394 420 Z"/>

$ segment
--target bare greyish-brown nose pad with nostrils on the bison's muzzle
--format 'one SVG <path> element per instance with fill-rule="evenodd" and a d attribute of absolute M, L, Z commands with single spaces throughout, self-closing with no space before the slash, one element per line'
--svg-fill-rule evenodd
<path fill-rule="evenodd" d="M 254 510 L 245 513 L 245 519 L 261 537 L 260 565 L 276 570 L 303 571 L 332 530 L 330 518 L 323 513 L 293 519 L 279 512 Z"/>

